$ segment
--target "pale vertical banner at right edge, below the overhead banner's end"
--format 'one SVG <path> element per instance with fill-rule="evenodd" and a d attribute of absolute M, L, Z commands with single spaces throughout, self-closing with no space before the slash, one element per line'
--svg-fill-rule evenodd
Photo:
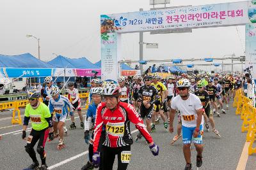
<path fill-rule="evenodd" d="M 245 67 L 247 72 L 251 72 L 256 78 L 256 24 L 246 24 L 245 26 Z"/>

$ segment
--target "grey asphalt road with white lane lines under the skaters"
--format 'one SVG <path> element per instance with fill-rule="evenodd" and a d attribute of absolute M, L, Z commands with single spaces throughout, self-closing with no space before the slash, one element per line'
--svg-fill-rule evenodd
<path fill-rule="evenodd" d="M 232 106 L 230 102 L 230 106 Z M 23 114 L 23 111 L 22 111 Z M 85 112 L 83 111 L 83 115 Z M 24 169 L 31 164 L 28 153 L 24 146 L 26 141 L 21 139 L 22 127 L 12 126 L 10 112 L 0 113 L 0 169 Z M 77 115 L 76 115 L 77 117 Z M 227 114 L 221 114 L 218 118 L 214 115 L 216 129 L 221 138 L 216 138 L 213 132 L 204 133 L 203 165 L 200 169 L 236 169 L 244 147 L 246 133 L 241 133 L 242 121 L 235 115 L 235 108 L 230 107 Z M 76 118 L 77 127 L 79 118 Z M 67 120 L 70 125 L 70 120 Z M 175 119 L 175 127 L 177 118 Z M 156 125 L 157 132 L 152 133 L 155 143 L 159 146 L 159 155 L 154 157 L 145 143 L 145 139 L 135 143 L 131 147 L 132 157 L 128 169 L 184 169 L 186 162 L 182 152 L 182 140 L 179 139 L 174 145 L 170 140 L 175 133 L 166 132 L 163 122 Z M 131 124 L 132 137 L 135 139 L 136 129 Z M 176 129 L 175 129 L 176 131 Z M 47 142 L 47 165 L 49 169 L 81 169 L 88 160 L 88 145 L 84 143 L 83 129 L 68 131 L 65 137 L 66 148 L 58 151 L 58 140 Z M 29 131 L 27 132 L 29 134 Z M 36 153 L 38 160 L 39 155 Z M 195 147 L 191 150 L 193 169 L 196 169 Z M 246 169 L 256 169 L 256 155 L 249 156 Z M 116 169 L 116 161 L 113 169 Z"/>

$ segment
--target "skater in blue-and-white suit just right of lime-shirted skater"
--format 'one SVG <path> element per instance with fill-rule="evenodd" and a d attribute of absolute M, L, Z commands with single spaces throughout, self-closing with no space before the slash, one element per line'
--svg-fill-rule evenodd
<path fill-rule="evenodd" d="M 68 108 L 70 112 L 73 112 L 74 107 L 68 101 L 68 98 L 60 95 L 60 90 L 58 87 L 52 87 L 51 89 L 52 98 L 49 101 L 49 110 L 53 115 L 53 130 L 54 130 L 54 138 L 60 136 L 58 142 L 58 150 L 61 150 L 65 147 L 63 141 L 63 126 L 65 125 L 65 121 L 67 119 Z M 72 113 L 70 113 L 72 115 Z"/>

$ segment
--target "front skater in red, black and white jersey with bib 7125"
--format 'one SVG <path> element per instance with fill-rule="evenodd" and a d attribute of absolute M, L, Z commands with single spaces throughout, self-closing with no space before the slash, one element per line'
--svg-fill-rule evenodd
<path fill-rule="evenodd" d="M 113 169 L 115 155 L 118 155 L 117 169 L 127 169 L 131 160 L 132 145 L 130 121 L 147 140 L 152 154 L 158 155 L 159 147 L 154 143 L 134 107 L 131 104 L 120 102 L 120 87 L 114 83 L 107 83 L 103 89 L 106 102 L 100 103 L 97 108 L 93 139 L 93 164 L 98 166 L 100 164 L 100 154 L 97 149 L 102 127 L 106 126 L 106 139 L 102 146 L 102 167 L 103 169 Z"/>

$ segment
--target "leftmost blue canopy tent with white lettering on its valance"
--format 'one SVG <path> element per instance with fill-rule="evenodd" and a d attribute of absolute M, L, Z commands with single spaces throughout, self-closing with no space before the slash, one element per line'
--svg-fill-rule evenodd
<path fill-rule="evenodd" d="M 30 53 L 0 55 L 0 76 L 6 78 L 51 76 L 54 68 L 58 67 L 36 59 Z"/>

